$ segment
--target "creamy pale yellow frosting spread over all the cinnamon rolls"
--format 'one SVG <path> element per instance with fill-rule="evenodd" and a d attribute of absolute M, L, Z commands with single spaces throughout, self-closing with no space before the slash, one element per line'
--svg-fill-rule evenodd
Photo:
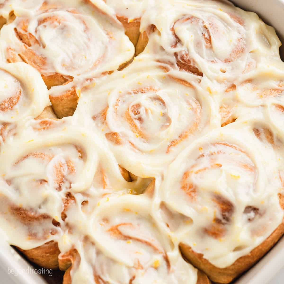
<path fill-rule="evenodd" d="M 284 66 L 256 14 L 227 1 L 8 0 L 0 15 L 9 244 L 58 243 L 72 283 L 195 284 L 181 243 L 225 268 L 283 222 Z M 134 47 L 116 15 L 141 17 L 149 38 L 120 71 Z M 51 75 L 64 81 L 48 90 Z M 72 116 L 35 120 L 70 90 Z"/>

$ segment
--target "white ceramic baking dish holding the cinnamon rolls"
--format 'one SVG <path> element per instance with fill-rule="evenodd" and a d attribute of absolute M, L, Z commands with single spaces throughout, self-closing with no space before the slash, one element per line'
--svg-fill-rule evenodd
<path fill-rule="evenodd" d="M 247 11 L 256 12 L 264 22 L 276 29 L 284 44 L 284 0 L 233 0 L 232 2 Z M 281 48 L 281 54 L 284 59 L 284 45 Z M 0 231 L 0 283 L 56 283 L 52 277 L 44 279 L 39 273 L 36 274 L 31 270 L 30 263 L 7 243 L 3 243 L 3 241 L 1 243 L 3 239 Z M 284 237 L 254 267 L 235 281 L 235 284 L 268 284 L 281 269 L 284 269 Z M 279 284 L 284 283 L 284 279 L 280 281 Z"/>

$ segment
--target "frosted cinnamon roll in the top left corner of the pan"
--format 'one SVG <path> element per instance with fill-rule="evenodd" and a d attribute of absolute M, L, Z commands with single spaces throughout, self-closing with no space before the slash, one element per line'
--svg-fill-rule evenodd
<path fill-rule="evenodd" d="M 73 78 L 116 70 L 134 53 L 118 20 L 91 1 L 75 1 L 72 6 L 66 1 L 44 1 L 36 11 L 15 5 L 14 14 L 15 20 L 1 30 L 3 60 L 30 64 L 41 73 L 48 89 Z M 51 96 L 59 118 L 62 114 L 57 108 L 66 108 L 67 102 L 70 106 L 63 116 L 72 115 L 77 100 L 72 88 L 59 99 Z"/>

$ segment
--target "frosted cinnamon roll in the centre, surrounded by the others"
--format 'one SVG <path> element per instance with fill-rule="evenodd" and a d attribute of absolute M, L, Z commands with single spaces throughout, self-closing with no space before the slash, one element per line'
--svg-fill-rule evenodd
<path fill-rule="evenodd" d="M 210 125 L 212 101 L 199 82 L 192 74 L 185 81 L 164 73 L 145 57 L 108 76 L 107 85 L 82 89 L 74 123 L 99 133 L 126 170 L 154 177 Z"/>

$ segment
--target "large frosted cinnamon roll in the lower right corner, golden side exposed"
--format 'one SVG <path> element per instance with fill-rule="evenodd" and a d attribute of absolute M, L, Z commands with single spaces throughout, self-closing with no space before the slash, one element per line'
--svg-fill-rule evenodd
<path fill-rule="evenodd" d="M 284 233 L 283 153 L 260 140 L 262 128 L 253 121 L 223 129 L 171 164 L 156 206 L 182 254 L 212 281 L 229 283 Z"/>

